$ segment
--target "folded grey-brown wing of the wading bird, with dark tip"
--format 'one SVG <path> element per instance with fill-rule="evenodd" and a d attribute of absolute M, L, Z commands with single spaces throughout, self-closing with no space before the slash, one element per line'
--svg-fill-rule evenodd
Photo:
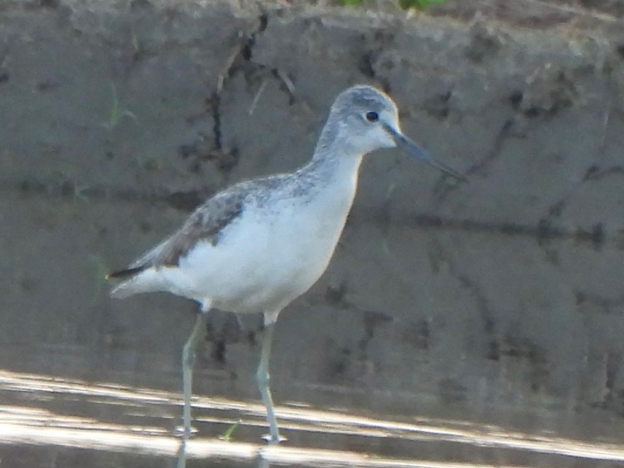
<path fill-rule="evenodd" d="M 125 270 L 110 273 L 108 278 L 127 278 L 152 266 L 175 266 L 180 257 L 205 240 L 217 245 L 220 233 L 243 212 L 245 192 L 226 190 L 208 199 L 188 217 L 182 228 L 154 249 L 134 261 Z"/>

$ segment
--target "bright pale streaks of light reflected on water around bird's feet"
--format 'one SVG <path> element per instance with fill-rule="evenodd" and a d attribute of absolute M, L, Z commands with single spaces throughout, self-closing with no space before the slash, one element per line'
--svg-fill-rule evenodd
<path fill-rule="evenodd" d="M 57 446 L 97 451 L 145 454 L 151 457 L 175 457 L 180 440 L 168 430 L 168 423 L 179 411 L 182 400 L 173 392 L 148 388 L 131 388 L 108 383 L 87 383 L 59 379 L 38 374 L 0 371 L 0 444 L 16 446 Z M 71 416 L 50 407 L 64 407 L 59 401 L 105 406 L 102 414 L 115 408 L 124 411 L 126 424 L 105 422 L 104 418 Z M 225 423 L 241 426 L 265 427 L 264 407 L 223 398 L 196 397 L 193 406 L 198 412 L 197 424 Z M 225 416 L 207 416 L 216 412 Z M 203 417 L 199 414 L 203 414 Z M 84 414 L 77 411 L 77 414 Z M 624 447 L 605 442 L 583 442 L 547 434 L 527 434 L 509 431 L 503 427 L 470 424 L 459 421 L 421 419 L 401 422 L 389 419 L 356 416 L 339 411 L 316 411 L 303 406 L 279 406 L 280 427 L 295 436 L 329 434 L 332 437 L 348 435 L 369 439 L 370 452 L 344 449 L 295 447 L 293 443 L 270 446 L 235 440 L 202 437 L 200 431 L 188 442 L 188 459 L 228 459 L 269 464 L 297 464 L 300 466 L 369 466 L 369 467 L 481 467 L 479 463 L 452 464 L 418 459 L 421 453 L 414 449 L 413 458 L 374 455 L 373 441 L 431 441 L 451 442 L 469 447 L 572 456 L 594 461 L 624 461 Z M 155 424 L 137 424 L 141 417 L 154 418 Z M 109 418 L 110 419 L 110 418 Z M 164 423 L 164 424 L 163 424 Z M 160 426 L 159 424 L 163 424 Z M 294 438 L 294 437 L 293 437 Z M 234 434 L 233 439 L 236 439 Z M 344 447 L 342 447 L 344 448 Z M 499 465 L 500 466 L 500 465 Z M 519 466 L 515 464 L 514 466 Z"/>

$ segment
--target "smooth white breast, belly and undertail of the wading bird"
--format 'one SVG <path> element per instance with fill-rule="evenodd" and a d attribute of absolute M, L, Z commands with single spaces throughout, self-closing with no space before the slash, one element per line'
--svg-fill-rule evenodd
<path fill-rule="evenodd" d="M 200 241 L 179 266 L 149 268 L 122 283 L 117 297 L 169 291 L 236 313 L 276 314 L 305 293 L 328 266 L 356 193 L 361 156 L 336 162 L 309 195 L 276 190 L 246 205 L 215 246 Z"/>

